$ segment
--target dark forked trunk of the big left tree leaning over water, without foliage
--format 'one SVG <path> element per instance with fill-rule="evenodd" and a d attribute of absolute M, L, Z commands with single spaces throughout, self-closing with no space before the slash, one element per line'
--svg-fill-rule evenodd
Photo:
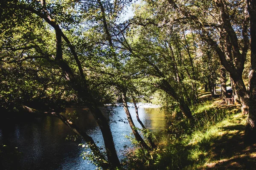
<path fill-rule="evenodd" d="M 100 129 L 102 130 L 102 136 L 104 139 L 106 153 L 108 157 L 108 161 L 110 162 L 112 167 L 120 167 L 120 162 L 116 154 L 116 149 L 113 143 L 113 136 L 108 125 L 108 121 L 103 116 L 102 112 L 97 108 L 96 102 L 94 102 L 93 97 L 88 92 L 87 81 L 83 74 L 83 69 L 81 67 L 81 63 L 79 61 L 78 55 L 75 51 L 75 48 L 69 41 L 69 39 L 64 35 L 60 26 L 52 20 L 49 11 L 46 8 L 46 1 L 41 0 L 42 9 L 41 11 L 37 11 L 33 8 L 28 8 L 29 11 L 37 14 L 39 17 L 44 19 L 52 28 L 55 30 L 55 37 L 56 37 L 56 56 L 55 56 L 55 64 L 58 65 L 63 74 L 65 75 L 67 81 L 77 94 L 87 103 L 88 107 L 90 108 L 96 122 L 98 123 Z M 71 70 L 70 66 L 64 61 L 62 55 L 62 38 L 67 42 L 67 45 L 73 54 L 73 57 L 76 60 L 77 66 L 79 68 L 80 77 L 76 77 L 74 72 Z"/>

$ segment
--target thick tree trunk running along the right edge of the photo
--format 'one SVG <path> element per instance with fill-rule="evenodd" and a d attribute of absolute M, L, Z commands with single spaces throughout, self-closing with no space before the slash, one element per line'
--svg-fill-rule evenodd
<path fill-rule="evenodd" d="M 250 14 L 251 70 L 249 114 L 245 129 L 245 142 L 256 143 L 256 1 L 247 0 Z"/>

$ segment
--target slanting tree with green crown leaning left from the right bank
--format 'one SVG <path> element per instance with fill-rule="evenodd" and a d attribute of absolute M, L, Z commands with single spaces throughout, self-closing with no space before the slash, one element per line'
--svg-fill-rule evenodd
<path fill-rule="evenodd" d="M 148 82 L 151 85 L 165 91 L 172 96 L 175 102 L 180 103 L 179 107 L 182 113 L 192 120 L 193 116 L 188 105 L 189 97 L 187 97 L 186 90 L 188 88 L 185 88 L 180 79 L 177 63 L 173 58 L 175 56 L 172 40 L 162 40 L 163 34 L 160 34 L 160 29 L 155 24 L 148 25 L 141 23 L 140 20 L 141 18 L 139 21 L 133 21 L 140 26 L 135 26 L 128 33 L 128 37 L 123 37 L 122 45 L 131 53 L 131 57 L 133 57 L 131 60 L 134 64 L 136 63 L 137 69 L 142 69 L 141 75 L 148 77 Z M 179 53 L 177 53 L 178 55 Z M 171 67 L 168 68 L 169 64 Z"/>

